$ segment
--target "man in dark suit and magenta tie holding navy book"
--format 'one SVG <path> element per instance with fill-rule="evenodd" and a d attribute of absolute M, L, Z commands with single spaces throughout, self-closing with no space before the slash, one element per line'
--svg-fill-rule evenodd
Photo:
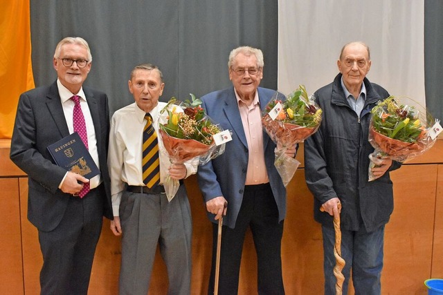
<path fill-rule="evenodd" d="M 28 219 L 38 229 L 44 260 L 42 294 L 87 294 L 102 216 L 112 218 L 107 95 L 82 87 L 91 61 L 87 41 L 64 38 L 53 58 L 57 81 L 23 93 L 17 108 L 10 158 L 28 174 Z M 47 149 L 74 132 L 79 97 L 83 141 L 100 168 L 91 180 L 57 166 Z"/>

